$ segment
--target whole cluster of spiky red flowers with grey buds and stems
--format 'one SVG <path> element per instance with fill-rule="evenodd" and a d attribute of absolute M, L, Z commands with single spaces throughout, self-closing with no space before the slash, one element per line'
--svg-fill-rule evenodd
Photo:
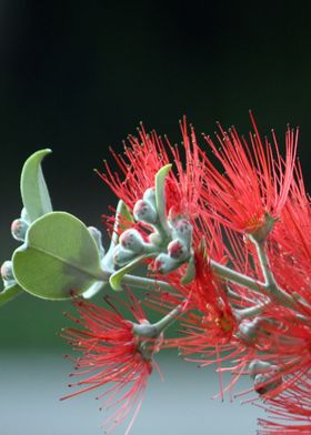
<path fill-rule="evenodd" d="M 249 140 L 219 125 L 217 143 L 203 135 L 203 148 L 185 119 L 181 148 L 141 127 L 123 156 L 112 151 L 121 175 L 107 163 L 100 174 L 126 210 L 116 218 L 110 284 L 146 289 L 142 303 L 163 315 L 149 324 L 132 295 L 137 324 L 76 302 L 84 328 L 64 335 L 83 352 L 77 367 L 87 380 L 70 396 L 112 384 L 100 397 L 118 405 L 113 422 L 140 407 L 153 353 L 178 347 L 188 361 L 231 371 L 229 390 L 251 376 L 250 399 L 272 415 L 259 422 L 262 434 L 311 432 L 311 215 L 298 131 L 288 128 L 283 158 L 275 133 L 262 140 L 251 121 Z M 147 277 L 130 275 L 140 264 Z M 173 322 L 180 335 L 165 337 Z"/>

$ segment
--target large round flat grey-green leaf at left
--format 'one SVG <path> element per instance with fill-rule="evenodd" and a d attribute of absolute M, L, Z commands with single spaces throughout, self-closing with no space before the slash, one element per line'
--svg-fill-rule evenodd
<path fill-rule="evenodd" d="M 82 294 L 96 282 L 108 281 L 94 239 L 79 219 L 64 212 L 39 218 L 12 261 L 18 283 L 42 299 L 69 299 L 72 292 Z"/>

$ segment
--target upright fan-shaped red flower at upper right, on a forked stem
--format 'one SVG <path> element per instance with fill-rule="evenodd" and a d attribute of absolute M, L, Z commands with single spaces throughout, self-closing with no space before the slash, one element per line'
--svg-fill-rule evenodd
<path fill-rule="evenodd" d="M 227 133 L 219 125 L 220 148 L 204 136 L 223 170 L 207 160 L 209 173 L 202 192 L 211 215 L 234 230 L 250 233 L 265 224 L 267 215 L 280 216 L 292 183 L 298 142 L 298 132 L 288 129 L 283 160 L 274 132 L 273 150 L 267 138 L 262 142 L 252 115 L 251 120 L 254 133 L 250 134 L 250 145 L 234 128 Z"/>

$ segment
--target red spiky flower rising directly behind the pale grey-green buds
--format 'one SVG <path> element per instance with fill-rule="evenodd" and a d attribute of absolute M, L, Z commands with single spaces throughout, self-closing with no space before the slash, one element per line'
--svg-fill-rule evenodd
<path fill-rule="evenodd" d="M 138 130 L 138 138 L 129 135 L 129 145 L 124 144 L 124 156 L 117 155 L 111 150 L 123 176 L 112 172 L 107 162 L 106 173 L 99 175 L 131 210 L 144 192 L 154 186 L 157 172 L 170 161 L 174 161 L 175 174 L 170 172 L 165 185 L 167 210 L 175 214 L 199 214 L 198 206 L 204 179 L 203 153 L 197 143 L 192 127 L 189 136 L 185 118 L 180 122 L 180 129 L 182 153 L 170 144 L 168 138 L 163 141 L 156 131 L 148 134 L 142 125 Z M 185 160 L 184 168 L 182 160 Z"/>

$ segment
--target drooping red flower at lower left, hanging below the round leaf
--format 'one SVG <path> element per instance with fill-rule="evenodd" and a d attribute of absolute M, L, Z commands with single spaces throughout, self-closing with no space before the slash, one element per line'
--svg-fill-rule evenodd
<path fill-rule="evenodd" d="M 130 295 L 130 308 L 136 320 L 143 324 L 144 314 L 133 295 Z M 121 301 L 120 301 L 121 302 Z M 133 332 L 133 323 L 123 318 L 116 306 L 99 307 L 82 300 L 73 302 L 80 317 L 68 314 L 82 328 L 67 328 L 62 334 L 76 351 L 82 356 L 76 361 L 76 372 L 71 376 L 82 376 L 77 383 L 80 390 L 64 398 L 103 387 L 98 395 L 102 399 L 101 408 L 116 407 L 104 421 L 107 431 L 112 429 L 133 411 L 128 426 L 129 433 L 140 409 L 148 378 L 152 372 L 152 354 L 156 352 L 156 341 L 141 340 Z M 148 343 L 147 343 L 148 342 Z"/>

